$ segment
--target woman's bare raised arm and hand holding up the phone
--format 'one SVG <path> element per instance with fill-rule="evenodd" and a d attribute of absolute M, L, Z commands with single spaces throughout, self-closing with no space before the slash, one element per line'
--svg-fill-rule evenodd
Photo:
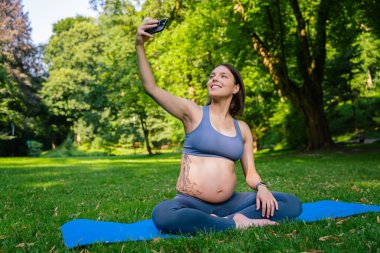
<path fill-rule="evenodd" d="M 150 19 L 145 20 L 143 24 L 137 28 L 135 46 L 142 85 L 145 92 L 171 115 L 180 119 L 182 122 L 189 120 L 191 121 L 192 111 L 196 110 L 195 108 L 197 105 L 191 100 L 176 97 L 158 87 L 152 70 L 149 66 L 148 59 L 146 58 L 144 43 L 149 38 L 152 38 L 153 35 L 149 34 L 145 30 L 148 28 L 156 27 L 157 24 L 158 20 Z"/>

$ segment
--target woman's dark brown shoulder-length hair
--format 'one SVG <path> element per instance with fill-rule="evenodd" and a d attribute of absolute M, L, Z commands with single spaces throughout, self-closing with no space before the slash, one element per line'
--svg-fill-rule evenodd
<path fill-rule="evenodd" d="M 245 102 L 245 89 L 244 89 L 244 83 L 243 78 L 241 77 L 239 71 L 232 67 L 228 63 L 222 63 L 216 66 L 215 68 L 219 66 L 224 66 L 228 68 L 228 70 L 232 73 L 235 79 L 235 84 L 239 85 L 239 91 L 233 95 L 230 105 L 230 113 L 232 116 L 242 116 L 244 111 L 244 102 Z M 211 104 L 211 99 L 208 101 L 207 105 Z"/>

